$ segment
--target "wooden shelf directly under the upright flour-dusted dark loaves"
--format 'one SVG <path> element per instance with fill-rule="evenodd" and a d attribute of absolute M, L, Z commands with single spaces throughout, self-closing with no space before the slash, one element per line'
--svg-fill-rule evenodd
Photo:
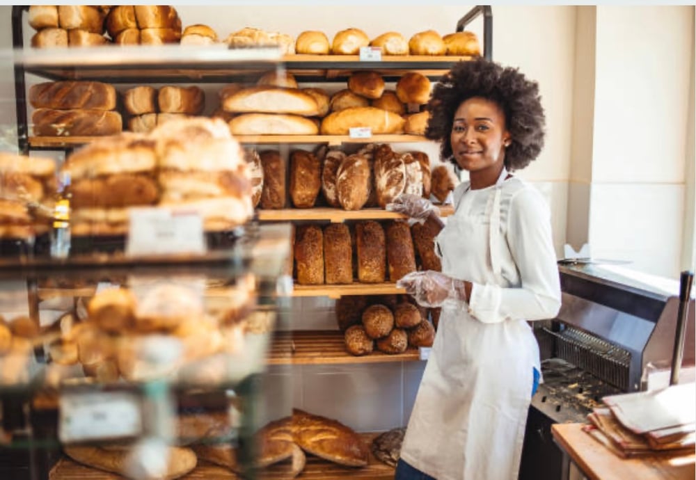
<path fill-rule="evenodd" d="M 454 213 L 452 205 L 437 205 L 440 216 L 450 216 Z M 347 220 L 393 220 L 406 218 L 402 214 L 380 208 L 364 208 L 360 210 L 344 210 L 331 207 L 315 207 L 308 209 L 279 209 L 257 210 L 259 221 L 267 222 L 295 222 L 311 220 L 328 220 L 331 223 L 342 223 Z"/>

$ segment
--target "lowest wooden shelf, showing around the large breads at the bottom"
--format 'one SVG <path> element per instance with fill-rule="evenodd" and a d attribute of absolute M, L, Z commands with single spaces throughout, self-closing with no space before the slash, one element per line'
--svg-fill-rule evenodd
<path fill-rule="evenodd" d="M 377 435 L 379 433 L 361 434 L 367 445 L 370 445 L 372 439 Z M 271 466 L 264 470 L 263 474 L 260 475 L 260 479 L 287 479 L 286 472 L 287 469 L 283 468 L 282 465 Z M 121 480 L 123 478 L 125 477 L 81 465 L 68 457 L 58 460 L 49 473 L 49 480 Z M 200 461 L 193 471 L 180 478 L 182 480 L 237 480 L 242 477 L 235 475 L 224 467 Z M 313 455 L 307 455 L 305 468 L 299 477 L 296 478 L 311 480 L 334 480 L 337 478 L 386 480 L 394 478 L 394 469 L 385 463 L 381 463 L 372 454 L 370 454 L 367 466 L 363 468 L 344 467 Z"/>

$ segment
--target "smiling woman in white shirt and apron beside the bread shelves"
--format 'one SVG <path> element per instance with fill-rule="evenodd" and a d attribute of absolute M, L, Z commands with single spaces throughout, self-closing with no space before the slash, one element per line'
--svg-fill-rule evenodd
<path fill-rule="evenodd" d="M 426 136 L 470 182 L 454 189 L 445 227 L 416 195 L 388 207 L 439 225 L 442 259 L 441 273 L 414 272 L 397 284 L 421 305 L 443 308 L 395 478 L 515 479 L 539 380 L 526 321 L 560 308 L 548 205 L 509 174 L 539 154 L 544 109 L 537 83 L 480 60 L 445 75 L 429 110 Z"/>

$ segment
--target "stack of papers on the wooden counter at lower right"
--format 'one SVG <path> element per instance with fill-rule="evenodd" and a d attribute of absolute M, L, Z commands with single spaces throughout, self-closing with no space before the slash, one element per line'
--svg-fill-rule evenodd
<path fill-rule="evenodd" d="M 612 395 L 583 427 L 622 458 L 693 454 L 696 447 L 696 384 Z"/>

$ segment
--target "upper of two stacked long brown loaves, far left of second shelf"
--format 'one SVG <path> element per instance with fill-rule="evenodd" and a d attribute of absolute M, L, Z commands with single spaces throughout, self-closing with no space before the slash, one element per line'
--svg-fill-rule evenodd
<path fill-rule="evenodd" d="M 29 88 L 29 102 L 35 109 L 116 108 L 116 88 L 99 81 L 47 81 Z"/>

